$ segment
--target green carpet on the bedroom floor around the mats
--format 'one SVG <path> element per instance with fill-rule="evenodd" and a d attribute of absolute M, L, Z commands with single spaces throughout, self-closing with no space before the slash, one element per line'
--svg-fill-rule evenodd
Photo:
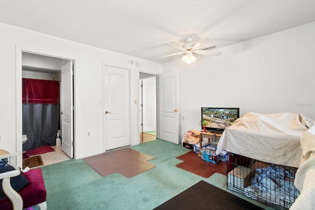
<path fill-rule="evenodd" d="M 181 160 L 175 157 L 190 151 L 181 145 L 156 140 L 130 148 L 153 156 L 149 162 L 156 167 L 128 179 L 118 173 L 101 177 L 82 159 L 43 166 L 47 208 L 152 210 L 200 180 L 227 190 L 224 175 L 216 173 L 203 178 L 176 167 Z M 263 204 L 259 206 L 266 208 Z"/>

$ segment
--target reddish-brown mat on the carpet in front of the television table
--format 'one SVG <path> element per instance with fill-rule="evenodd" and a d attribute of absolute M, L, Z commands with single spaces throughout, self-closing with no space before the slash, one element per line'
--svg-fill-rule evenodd
<path fill-rule="evenodd" d="M 184 161 L 177 164 L 177 167 L 201 177 L 209 178 L 216 172 L 226 175 L 226 162 L 219 161 L 217 164 L 208 163 L 207 161 L 201 159 L 198 154 L 193 153 L 193 151 L 189 151 L 176 158 Z"/>

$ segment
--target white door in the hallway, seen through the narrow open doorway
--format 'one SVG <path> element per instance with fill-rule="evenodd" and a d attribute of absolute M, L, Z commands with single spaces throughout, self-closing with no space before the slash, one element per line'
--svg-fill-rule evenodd
<path fill-rule="evenodd" d="M 142 80 L 142 132 L 157 130 L 157 82 L 156 77 Z"/>

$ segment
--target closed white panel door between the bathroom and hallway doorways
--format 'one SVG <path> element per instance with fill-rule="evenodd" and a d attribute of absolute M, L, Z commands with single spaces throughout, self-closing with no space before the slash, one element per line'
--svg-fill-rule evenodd
<path fill-rule="evenodd" d="M 129 69 L 104 64 L 104 150 L 129 145 Z"/>

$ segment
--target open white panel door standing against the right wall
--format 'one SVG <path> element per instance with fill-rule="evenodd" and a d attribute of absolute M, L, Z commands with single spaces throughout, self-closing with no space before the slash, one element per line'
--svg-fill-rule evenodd
<path fill-rule="evenodd" d="M 159 139 L 179 143 L 178 71 L 158 75 Z"/>

